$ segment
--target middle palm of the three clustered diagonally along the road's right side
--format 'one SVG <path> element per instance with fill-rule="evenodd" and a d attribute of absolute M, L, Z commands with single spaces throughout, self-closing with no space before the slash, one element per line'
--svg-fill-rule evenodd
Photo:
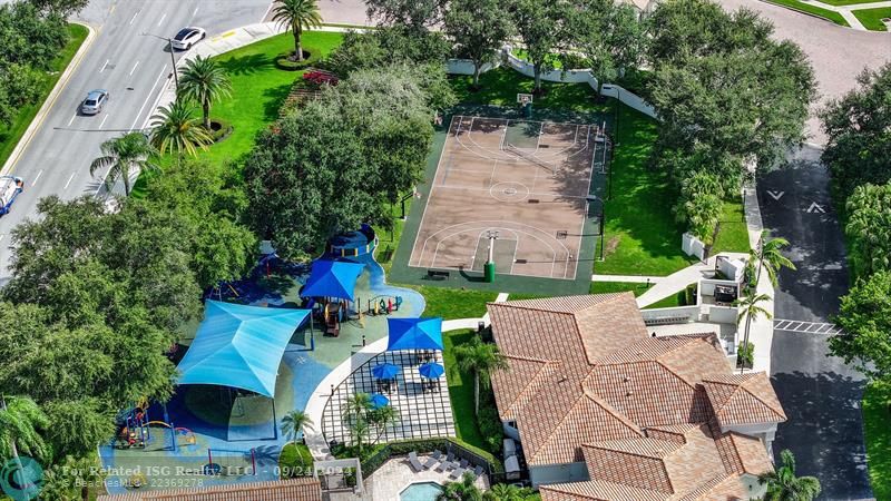
<path fill-rule="evenodd" d="M 195 155 L 198 148 L 207 149 L 214 141 L 210 131 L 192 114 L 188 105 L 177 99 L 170 106 L 161 106 L 151 116 L 151 145 L 161 154 L 184 153 Z"/>

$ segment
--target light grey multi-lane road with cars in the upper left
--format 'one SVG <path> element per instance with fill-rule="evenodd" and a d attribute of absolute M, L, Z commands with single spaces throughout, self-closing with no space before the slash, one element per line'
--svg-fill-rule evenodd
<path fill-rule="evenodd" d="M 158 92 L 170 76 L 167 42 L 140 36 L 174 36 L 185 26 L 199 26 L 208 37 L 258 22 L 270 0 L 94 0 L 78 16 L 97 30 L 85 58 L 46 116 L 10 174 L 25 179 L 25 190 L 0 218 L 0 284 L 8 279 L 10 233 L 37 213 L 49 195 L 72 199 L 97 193 L 105 173 L 90 176 L 99 145 L 123 130 L 141 128 Z M 178 57 L 178 53 L 174 55 Z M 78 106 L 90 89 L 104 88 L 110 98 L 102 112 L 81 116 Z"/>

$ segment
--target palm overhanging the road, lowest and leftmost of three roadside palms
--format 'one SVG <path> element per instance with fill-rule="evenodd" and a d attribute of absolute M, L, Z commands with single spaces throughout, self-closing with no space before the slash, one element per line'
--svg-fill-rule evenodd
<path fill-rule="evenodd" d="M 90 176 L 95 176 L 97 170 L 108 168 L 108 174 L 102 179 L 106 189 L 111 189 L 115 181 L 120 178 L 124 181 L 124 195 L 129 196 L 130 176 L 134 170 L 157 170 L 157 167 L 148 161 L 155 155 L 155 148 L 143 132 L 127 132 L 109 139 L 102 143 L 100 149 L 102 156 L 90 164 Z"/>

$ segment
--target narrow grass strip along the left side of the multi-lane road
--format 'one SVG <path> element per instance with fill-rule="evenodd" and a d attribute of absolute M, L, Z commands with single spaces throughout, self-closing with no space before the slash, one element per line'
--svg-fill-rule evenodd
<path fill-rule="evenodd" d="M 12 150 L 16 149 L 19 139 L 21 139 L 25 131 L 28 130 L 31 120 L 35 119 L 40 107 L 43 106 L 47 96 L 49 96 L 56 82 L 59 81 L 68 63 L 71 62 L 80 45 L 84 43 L 84 40 L 87 38 L 88 32 L 87 27 L 82 24 L 68 24 L 68 43 L 66 43 L 59 52 L 56 60 L 52 61 L 52 70 L 43 78 L 40 85 L 40 97 L 37 102 L 19 108 L 19 112 L 12 118 L 11 125 L 9 127 L 0 127 L 0 165 L 3 165 L 7 158 L 12 154 Z"/>

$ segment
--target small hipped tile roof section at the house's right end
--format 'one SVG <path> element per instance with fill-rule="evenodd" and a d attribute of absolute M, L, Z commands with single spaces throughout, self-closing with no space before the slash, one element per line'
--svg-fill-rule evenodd
<path fill-rule="evenodd" d="M 713 374 L 703 377 L 715 418 L 721 426 L 776 423 L 786 414 L 767 374 Z"/>

